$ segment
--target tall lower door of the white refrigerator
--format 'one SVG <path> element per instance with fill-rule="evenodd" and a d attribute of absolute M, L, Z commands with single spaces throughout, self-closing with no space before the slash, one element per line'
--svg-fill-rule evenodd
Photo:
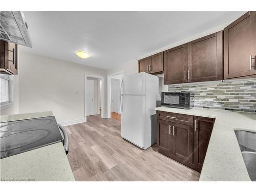
<path fill-rule="evenodd" d="M 145 96 L 124 95 L 121 116 L 121 136 L 144 148 L 145 145 Z"/>

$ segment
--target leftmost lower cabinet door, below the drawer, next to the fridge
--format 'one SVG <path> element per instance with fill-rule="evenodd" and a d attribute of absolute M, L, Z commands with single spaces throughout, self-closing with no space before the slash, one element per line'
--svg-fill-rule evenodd
<path fill-rule="evenodd" d="M 172 122 L 158 120 L 159 153 L 169 156 L 173 153 Z"/>

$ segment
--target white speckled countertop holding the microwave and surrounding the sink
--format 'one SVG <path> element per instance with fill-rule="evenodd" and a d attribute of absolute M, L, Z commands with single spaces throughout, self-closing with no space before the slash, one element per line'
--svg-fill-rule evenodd
<path fill-rule="evenodd" d="M 234 129 L 255 132 L 255 113 L 201 108 L 156 110 L 216 119 L 199 181 L 250 181 Z"/>

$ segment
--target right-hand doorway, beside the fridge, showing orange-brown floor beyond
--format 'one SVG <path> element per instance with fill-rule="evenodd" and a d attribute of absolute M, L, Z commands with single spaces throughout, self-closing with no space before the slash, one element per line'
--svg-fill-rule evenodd
<path fill-rule="evenodd" d="M 124 71 L 108 75 L 108 118 L 121 122 L 120 89 Z"/>

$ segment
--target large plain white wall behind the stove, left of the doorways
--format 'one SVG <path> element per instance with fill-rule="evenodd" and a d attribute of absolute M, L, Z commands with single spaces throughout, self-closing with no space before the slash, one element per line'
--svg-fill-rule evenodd
<path fill-rule="evenodd" d="M 58 122 L 84 119 L 84 74 L 105 77 L 106 71 L 20 52 L 19 113 L 52 111 Z"/>

